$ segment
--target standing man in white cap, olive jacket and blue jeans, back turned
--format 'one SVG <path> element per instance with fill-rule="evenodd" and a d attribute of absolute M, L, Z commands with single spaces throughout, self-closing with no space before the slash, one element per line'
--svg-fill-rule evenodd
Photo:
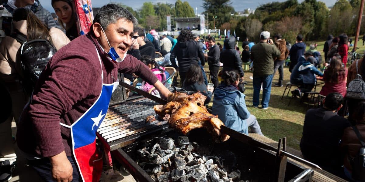
<path fill-rule="evenodd" d="M 280 58 L 280 51 L 274 45 L 268 44 L 270 32 L 260 34 L 260 43 L 251 48 L 253 61 L 253 107 L 258 107 L 260 101 L 260 88 L 262 85 L 261 107 L 269 107 L 271 84 L 274 73 L 274 59 Z"/>

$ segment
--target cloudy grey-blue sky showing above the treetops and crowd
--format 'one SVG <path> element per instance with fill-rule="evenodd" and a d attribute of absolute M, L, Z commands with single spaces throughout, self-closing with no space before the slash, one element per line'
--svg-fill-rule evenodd
<path fill-rule="evenodd" d="M 50 0 L 39 0 L 43 7 L 45 7 L 48 11 L 54 12 L 51 1 Z M 103 6 L 104 4 L 110 3 L 110 2 L 118 2 L 125 5 L 128 5 L 132 7 L 133 9 L 138 9 L 142 7 L 142 4 L 149 0 L 92 0 L 92 7 L 98 8 Z M 203 0 L 182 0 L 182 1 L 188 1 L 188 3 L 191 5 L 192 8 L 194 8 L 194 11 L 196 12 L 196 8 L 198 8 L 198 13 L 201 13 L 204 11 L 203 7 Z M 276 0 L 283 2 L 285 0 Z M 302 2 L 304 0 L 299 0 L 299 2 Z M 328 7 L 333 6 L 336 2 L 336 0 L 322 0 Z M 171 3 L 175 4 L 176 0 L 154 0 L 151 1 L 152 3 Z M 272 2 L 271 0 L 231 0 L 232 6 L 234 7 L 235 11 L 244 11 L 247 8 L 250 9 L 256 9 L 261 4 L 266 4 Z"/>

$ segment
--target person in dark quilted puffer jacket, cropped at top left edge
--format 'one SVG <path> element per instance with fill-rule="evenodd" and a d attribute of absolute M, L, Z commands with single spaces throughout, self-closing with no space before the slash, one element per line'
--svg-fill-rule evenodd
<path fill-rule="evenodd" d="M 51 13 L 42 7 L 39 0 L 7 0 L 3 4 L 9 13 L 13 14 L 16 8 L 30 8 L 32 12 L 50 29 L 52 27 L 62 30 L 61 25 L 58 25 L 56 20 L 53 19 Z"/>

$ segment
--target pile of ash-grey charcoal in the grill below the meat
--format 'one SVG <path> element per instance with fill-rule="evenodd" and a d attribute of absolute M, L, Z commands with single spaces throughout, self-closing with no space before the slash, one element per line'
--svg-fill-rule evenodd
<path fill-rule="evenodd" d="M 188 137 L 179 137 L 176 143 L 171 138 L 160 138 L 137 151 L 139 166 L 157 182 L 245 182 L 239 181 L 239 170 L 227 174 L 218 157 L 199 155 L 196 147 L 197 143 L 189 142 Z"/>

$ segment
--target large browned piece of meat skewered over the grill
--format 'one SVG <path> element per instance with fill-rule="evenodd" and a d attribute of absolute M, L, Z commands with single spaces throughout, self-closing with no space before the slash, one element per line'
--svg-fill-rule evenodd
<path fill-rule="evenodd" d="M 217 116 L 210 114 L 203 106 L 206 97 L 197 92 L 192 95 L 174 92 L 169 95 L 166 105 L 154 106 L 155 112 L 163 119 L 168 120 L 170 127 L 187 134 L 195 128 L 207 128 L 208 132 L 220 136 L 220 126 L 224 125 Z M 200 104 L 200 105 L 199 105 Z M 226 141 L 228 135 L 221 136 L 222 141 Z"/>

